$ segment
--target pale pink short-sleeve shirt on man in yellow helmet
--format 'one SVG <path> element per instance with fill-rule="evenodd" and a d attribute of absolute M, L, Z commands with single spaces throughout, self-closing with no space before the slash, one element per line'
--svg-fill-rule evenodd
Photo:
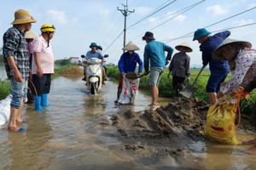
<path fill-rule="evenodd" d="M 44 40 L 44 37 L 39 36 L 32 42 L 32 51 L 39 52 L 40 64 L 43 69 L 43 74 L 52 74 L 54 73 L 54 54 L 49 42 Z M 37 74 L 37 65 L 35 59 L 32 59 L 32 74 Z"/>

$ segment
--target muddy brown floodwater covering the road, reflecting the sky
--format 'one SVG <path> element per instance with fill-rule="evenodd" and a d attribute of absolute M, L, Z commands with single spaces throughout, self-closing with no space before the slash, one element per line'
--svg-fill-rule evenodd
<path fill-rule="evenodd" d="M 116 89 L 117 84 L 107 82 L 101 93 L 90 95 L 80 77 L 55 79 L 49 94 L 50 107 L 39 113 L 33 111 L 33 105 L 26 105 L 26 122 L 22 123 L 25 133 L 0 129 L 0 169 L 156 169 L 154 163 L 178 169 L 178 161 L 171 156 L 159 161 L 152 155 L 154 149 L 122 150 L 124 141 L 119 141 L 109 117 L 148 109 L 151 99 L 138 94 L 135 106 L 114 105 Z M 184 159 L 194 165 L 191 167 L 255 169 L 254 156 L 241 151 L 246 148 L 197 142 L 190 144 L 189 150 L 199 161 Z"/>

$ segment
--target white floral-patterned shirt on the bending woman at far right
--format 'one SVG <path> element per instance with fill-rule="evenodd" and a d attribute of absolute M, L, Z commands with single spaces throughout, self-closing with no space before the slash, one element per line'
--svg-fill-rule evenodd
<path fill-rule="evenodd" d="M 228 82 L 220 85 L 222 94 L 231 94 L 238 90 L 241 84 L 247 84 L 256 76 L 256 49 L 245 48 L 240 50 L 235 59 L 236 68 Z"/>

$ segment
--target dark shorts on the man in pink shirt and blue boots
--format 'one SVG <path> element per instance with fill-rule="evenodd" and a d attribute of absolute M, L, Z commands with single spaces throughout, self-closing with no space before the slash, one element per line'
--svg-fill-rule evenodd
<path fill-rule="evenodd" d="M 42 77 L 38 75 L 32 75 L 32 82 L 35 88 L 32 88 L 33 95 L 49 94 L 51 74 L 43 74 Z"/>

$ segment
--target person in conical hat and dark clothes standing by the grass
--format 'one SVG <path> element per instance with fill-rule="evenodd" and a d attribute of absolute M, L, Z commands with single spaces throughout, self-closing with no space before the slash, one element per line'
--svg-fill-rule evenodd
<path fill-rule="evenodd" d="M 171 64 L 169 65 L 169 75 L 172 73 L 172 87 L 175 90 L 176 95 L 178 96 L 179 91 L 183 88 L 183 83 L 185 79 L 189 81 L 189 65 L 190 57 L 188 54 L 192 52 L 187 42 L 183 42 L 175 47 L 179 52 L 173 55 Z"/>

